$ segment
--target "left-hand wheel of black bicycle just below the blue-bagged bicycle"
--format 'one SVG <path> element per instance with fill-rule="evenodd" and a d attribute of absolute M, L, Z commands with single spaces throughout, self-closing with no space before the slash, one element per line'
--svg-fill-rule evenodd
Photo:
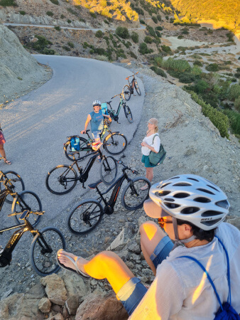
<path fill-rule="evenodd" d="M 77 173 L 71 166 L 60 164 L 48 172 L 45 183 L 51 193 L 65 194 L 76 186 Z"/>

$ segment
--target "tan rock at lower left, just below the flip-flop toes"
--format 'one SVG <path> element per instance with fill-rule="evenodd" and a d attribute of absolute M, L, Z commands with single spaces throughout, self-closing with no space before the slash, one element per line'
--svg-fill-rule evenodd
<path fill-rule="evenodd" d="M 67 290 L 63 280 L 57 274 L 50 274 L 40 280 L 50 302 L 63 306 L 67 300 Z"/>

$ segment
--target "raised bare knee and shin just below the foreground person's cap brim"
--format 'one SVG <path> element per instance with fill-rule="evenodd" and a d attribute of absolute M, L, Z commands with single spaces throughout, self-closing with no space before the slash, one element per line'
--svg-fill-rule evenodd
<path fill-rule="evenodd" d="M 155 250 L 156 246 L 165 237 L 165 233 L 160 227 L 153 221 L 147 221 L 140 226 L 141 233 L 141 250 L 145 257 L 146 262 L 148 262 L 149 267 L 156 275 L 156 267 L 153 265 L 151 260 L 151 255 Z"/>

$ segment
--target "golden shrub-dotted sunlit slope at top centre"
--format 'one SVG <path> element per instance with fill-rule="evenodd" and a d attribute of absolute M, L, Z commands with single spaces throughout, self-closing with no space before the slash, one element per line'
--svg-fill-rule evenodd
<path fill-rule="evenodd" d="M 84 6 L 92 15 L 101 14 L 106 18 L 118 21 L 138 21 L 138 14 L 134 11 L 129 1 L 125 0 L 72 0 L 75 6 Z"/>

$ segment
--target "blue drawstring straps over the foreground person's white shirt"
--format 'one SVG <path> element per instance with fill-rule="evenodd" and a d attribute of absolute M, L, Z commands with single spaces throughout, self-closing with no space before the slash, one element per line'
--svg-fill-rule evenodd
<path fill-rule="evenodd" d="M 231 305 L 231 284 L 230 284 L 230 267 L 229 267 L 229 255 L 227 253 L 227 249 L 226 247 L 224 246 L 224 244 L 222 243 L 222 241 L 217 237 L 217 235 L 215 235 L 215 237 L 217 238 L 217 240 L 219 240 L 219 242 L 221 243 L 222 247 L 224 248 L 224 252 L 226 254 L 226 257 L 227 257 L 227 282 L 228 282 L 228 287 L 229 287 L 229 292 L 228 292 L 228 297 L 227 297 L 227 302 L 229 302 L 229 304 Z M 199 262 L 197 259 L 195 259 L 194 257 L 190 257 L 189 255 L 182 255 L 181 257 L 185 257 L 187 259 L 190 259 L 192 261 L 195 261 L 197 262 L 197 265 L 199 265 L 202 270 L 205 272 L 205 274 L 207 275 L 207 279 L 209 279 L 209 282 L 210 284 L 212 284 L 212 288 L 214 289 L 214 292 L 217 296 L 217 301 L 219 302 L 220 304 L 220 307 L 222 309 L 222 311 L 224 310 L 223 307 L 222 307 L 222 302 L 219 298 L 219 294 L 217 293 L 217 289 L 216 287 L 214 286 L 214 283 L 212 281 L 212 278 L 209 276 L 209 273 L 207 272 L 207 270 L 204 268 L 204 266 L 202 265 L 201 262 Z M 181 258 L 181 257 L 178 257 L 178 258 Z"/>

